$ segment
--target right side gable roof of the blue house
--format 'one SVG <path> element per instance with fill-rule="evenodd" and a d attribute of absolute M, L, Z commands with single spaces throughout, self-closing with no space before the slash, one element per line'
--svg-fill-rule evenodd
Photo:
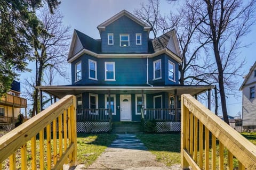
<path fill-rule="evenodd" d="M 160 37 L 153 39 L 152 47 L 154 49 L 154 52 L 157 52 L 159 50 L 167 48 L 175 55 L 177 55 L 179 57 L 181 56 L 179 45 L 178 45 L 178 40 L 177 40 L 176 33 L 175 33 L 174 29 L 169 32 L 166 32 L 164 35 L 162 35 Z M 151 51 L 150 47 L 149 47 L 149 51 Z"/>

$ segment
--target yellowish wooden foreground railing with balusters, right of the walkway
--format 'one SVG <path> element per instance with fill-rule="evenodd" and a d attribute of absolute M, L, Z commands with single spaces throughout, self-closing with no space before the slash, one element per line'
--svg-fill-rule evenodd
<path fill-rule="evenodd" d="M 256 146 L 190 95 L 181 96 L 181 165 L 256 169 Z"/>

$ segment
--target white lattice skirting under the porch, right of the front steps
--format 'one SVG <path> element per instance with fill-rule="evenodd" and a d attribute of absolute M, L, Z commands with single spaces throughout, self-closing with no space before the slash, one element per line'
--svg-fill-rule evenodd
<path fill-rule="evenodd" d="M 156 122 L 157 132 L 179 132 L 180 122 Z"/>

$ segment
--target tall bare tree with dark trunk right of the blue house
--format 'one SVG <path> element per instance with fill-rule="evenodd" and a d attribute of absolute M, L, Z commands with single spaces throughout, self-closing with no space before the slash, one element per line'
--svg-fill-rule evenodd
<path fill-rule="evenodd" d="M 225 88 L 236 87 L 234 76 L 240 75 L 239 70 L 243 66 L 243 62 L 238 58 L 239 50 L 244 46 L 241 44 L 241 38 L 250 31 L 254 23 L 255 1 L 198 0 L 194 3 L 199 6 L 194 9 L 200 16 L 198 20 L 203 22 L 197 28 L 204 35 L 201 39 L 210 38 L 212 41 L 223 118 L 229 123 Z"/>

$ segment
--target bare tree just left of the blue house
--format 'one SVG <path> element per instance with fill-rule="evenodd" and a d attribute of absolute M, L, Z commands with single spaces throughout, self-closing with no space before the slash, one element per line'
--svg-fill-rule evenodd
<path fill-rule="evenodd" d="M 69 46 L 69 27 L 62 25 L 63 16 L 59 10 L 53 12 L 53 14 L 47 13 L 47 9 L 44 8 L 40 14 L 44 30 L 38 37 L 38 47 L 34 47 L 34 57 L 36 65 L 35 82 L 29 83 L 31 86 L 41 86 L 44 80 L 45 69 L 52 67 L 59 75 L 65 77 L 65 70 L 63 70 L 63 64 L 66 63 L 66 55 Z M 28 82 L 28 81 L 27 81 Z M 34 89 L 33 94 L 33 109 L 31 116 L 38 113 L 38 89 Z"/>

